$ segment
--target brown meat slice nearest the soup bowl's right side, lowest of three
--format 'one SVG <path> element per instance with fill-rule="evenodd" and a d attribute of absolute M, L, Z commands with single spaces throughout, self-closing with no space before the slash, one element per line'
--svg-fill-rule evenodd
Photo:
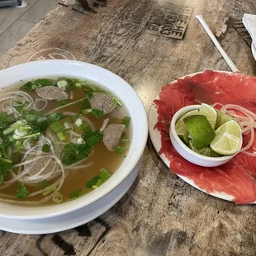
<path fill-rule="evenodd" d="M 126 131 L 126 126 L 121 124 L 111 124 L 103 131 L 103 143 L 108 150 L 113 151 L 119 141 L 121 135 Z"/>

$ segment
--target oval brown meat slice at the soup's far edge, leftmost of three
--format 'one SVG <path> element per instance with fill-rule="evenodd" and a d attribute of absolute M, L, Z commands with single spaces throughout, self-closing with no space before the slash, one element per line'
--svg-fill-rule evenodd
<path fill-rule="evenodd" d="M 45 86 L 43 88 L 37 88 L 36 94 L 39 97 L 49 101 L 66 99 L 69 97 L 69 94 L 67 92 L 64 92 L 63 90 L 55 86 Z"/>

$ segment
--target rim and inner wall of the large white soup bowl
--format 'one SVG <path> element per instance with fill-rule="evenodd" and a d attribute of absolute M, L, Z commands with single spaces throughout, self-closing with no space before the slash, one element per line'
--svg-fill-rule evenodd
<path fill-rule="evenodd" d="M 92 82 L 99 83 L 102 87 L 114 92 L 130 112 L 132 124 L 132 140 L 126 159 L 118 168 L 116 173 L 103 183 L 101 187 L 90 192 L 88 195 L 74 201 L 65 202 L 56 206 L 14 206 L 0 203 L 0 216 L 17 219 L 41 219 L 51 216 L 59 216 L 64 213 L 78 210 L 83 206 L 89 206 L 93 201 L 107 195 L 117 187 L 135 168 L 145 149 L 148 137 L 148 122 L 145 107 L 140 101 L 130 84 L 126 83 L 115 73 L 102 69 L 93 64 L 73 60 L 41 60 L 26 64 L 19 64 L 9 69 L 0 71 L 1 87 L 5 88 L 21 79 L 44 78 L 50 76 L 67 76 L 86 78 Z"/>

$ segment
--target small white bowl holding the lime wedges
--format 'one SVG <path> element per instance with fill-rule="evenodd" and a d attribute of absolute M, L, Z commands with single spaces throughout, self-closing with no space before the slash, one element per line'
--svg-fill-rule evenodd
<path fill-rule="evenodd" d="M 176 149 L 178 154 L 183 156 L 184 159 L 187 159 L 187 161 L 191 162 L 192 164 L 197 164 L 205 167 L 214 167 L 214 166 L 219 166 L 221 164 L 225 164 L 229 162 L 231 159 L 233 159 L 235 154 L 216 157 L 216 158 L 197 154 L 192 149 L 189 149 L 187 145 L 185 145 L 177 135 L 177 132 L 175 130 L 175 124 L 178 121 L 178 119 L 182 117 L 184 114 L 186 114 L 188 111 L 199 109 L 200 107 L 201 105 L 190 105 L 190 106 L 181 108 L 179 111 L 177 111 L 174 114 L 173 119 L 171 121 L 170 129 L 169 129 L 169 135 L 170 135 L 170 139 L 172 141 L 173 147 L 174 149 Z M 239 145 L 239 149 L 241 149 L 241 146 L 242 146 L 242 140 L 240 141 L 241 142 Z"/>

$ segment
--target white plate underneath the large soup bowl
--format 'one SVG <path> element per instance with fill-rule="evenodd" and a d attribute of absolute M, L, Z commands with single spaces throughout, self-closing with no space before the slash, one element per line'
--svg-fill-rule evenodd
<path fill-rule="evenodd" d="M 17 220 L 0 217 L 0 230 L 18 234 L 40 235 L 70 230 L 78 225 L 88 223 L 109 210 L 126 194 L 139 173 L 141 162 L 142 161 L 140 159 L 133 171 L 119 186 L 108 193 L 105 197 L 92 202 L 89 206 L 84 206 L 77 211 L 73 211 L 62 216 L 40 220 Z"/>

